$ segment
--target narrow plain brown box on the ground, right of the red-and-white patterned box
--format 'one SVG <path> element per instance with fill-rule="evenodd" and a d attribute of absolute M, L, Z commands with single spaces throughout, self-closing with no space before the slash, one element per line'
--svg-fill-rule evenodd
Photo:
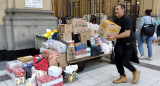
<path fill-rule="evenodd" d="M 60 54 L 60 57 L 59 57 L 59 66 L 60 66 L 61 68 L 63 68 L 63 69 L 64 69 L 66 66 L 68 66 L 66 53 Z"/>

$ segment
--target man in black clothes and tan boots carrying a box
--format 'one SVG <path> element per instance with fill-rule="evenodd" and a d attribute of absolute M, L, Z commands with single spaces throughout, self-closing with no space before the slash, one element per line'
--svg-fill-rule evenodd
<path fill-rule="evenodd" d="M 125 14 L 125 6 L 123 4 L 115 6 L 115 15 L 117 18 L 114 22 L 121 26 L 121 30 L 118 35 L 107 37 L 107 40 L 109 41 L 117 39 L 114 52 L 115 64 L 120 74 L 120 78 L 114 80 L 113 83 L 127 83 L 124 67 L 133 73 L 132 83 L 137 83 L 140 71 L 130 63 L 130 61 L 139 63 L 132 21 L 129 16 Z"/>

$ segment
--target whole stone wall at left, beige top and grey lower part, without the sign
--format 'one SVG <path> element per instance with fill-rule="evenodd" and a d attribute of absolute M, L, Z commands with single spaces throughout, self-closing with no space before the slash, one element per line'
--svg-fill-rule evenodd
<path fill-rule="evenodd" d="M 57 28 L 57 19 L 53 17 L 52 12 L 52 0 L 43 0 L 43 8 L 25 7 L 25 0 L 0 0 L 0 6 L 0 50 L 19 50 L 34 48 L 34 35 L 45 32 L 46 28 Z M 12 12 L 8 13 L 13 14 L 6 13 L 6 9 L 8 8 L 12 9 Z M 26 12 L 24 12 L 25 10 Z M 31 10 L 34 10 L 35 13 Z M 36 12 L 37 10 L 39 10 L 40 12 Z M 34 14 L 34 16 L 32 16 L 32 14 Z M 41 14 L 46 16 L 40 16 Z M 39 17 L 37 17 L 36 15 Z M 44 20 L 42 21 L 42 19 Z M 28 21 L 33 21 L 33 23 L 29 23 Z M 21 37 L 24 37 L 20 39 L 19 35 L 22 35 Z M 27 45 L 27 42 L 30 42 L 31 45 Z"/>

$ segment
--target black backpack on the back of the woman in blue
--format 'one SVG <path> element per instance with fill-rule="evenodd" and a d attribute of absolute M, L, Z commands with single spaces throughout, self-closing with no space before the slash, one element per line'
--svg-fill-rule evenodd
<path fill-rule="evenodd" d="M 152 22 L 152 18 L 151 18 Z M 152 24 L 143 24 L 141 34 L 147 35 L 148 37 L 151 37 L 154 35 L 155 32 L 155 26 Z"/>

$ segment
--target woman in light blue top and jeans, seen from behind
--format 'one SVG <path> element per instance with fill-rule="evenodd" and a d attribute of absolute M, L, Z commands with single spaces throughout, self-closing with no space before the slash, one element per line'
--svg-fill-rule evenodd
<path fill-rule="evenodd" d="M 145 10 L 145 16 L 143 16 L 141 18 L 140 21 L 140 25 L 138 27 L 138 49 L 139 52 L 141 54 L 140 59 L 147 59 L 147 60 L 151 60 L 152 57 L 152 39 L 153 37 L 149 37 L 145 34 L 141 34 L 141 29 L 143 27 L 144 24 L 153 24 L 155 26 L 158 26 L 158 23 L 156 22 L 155 19 L 153 19 L 150 15 L 151 15 L 152 10 Z M 144 41 L 147 42 L 147 48 L 148 48 L 148 57 L 144 56 L 144 48 L 143 48 L 143 43 Z"/>

